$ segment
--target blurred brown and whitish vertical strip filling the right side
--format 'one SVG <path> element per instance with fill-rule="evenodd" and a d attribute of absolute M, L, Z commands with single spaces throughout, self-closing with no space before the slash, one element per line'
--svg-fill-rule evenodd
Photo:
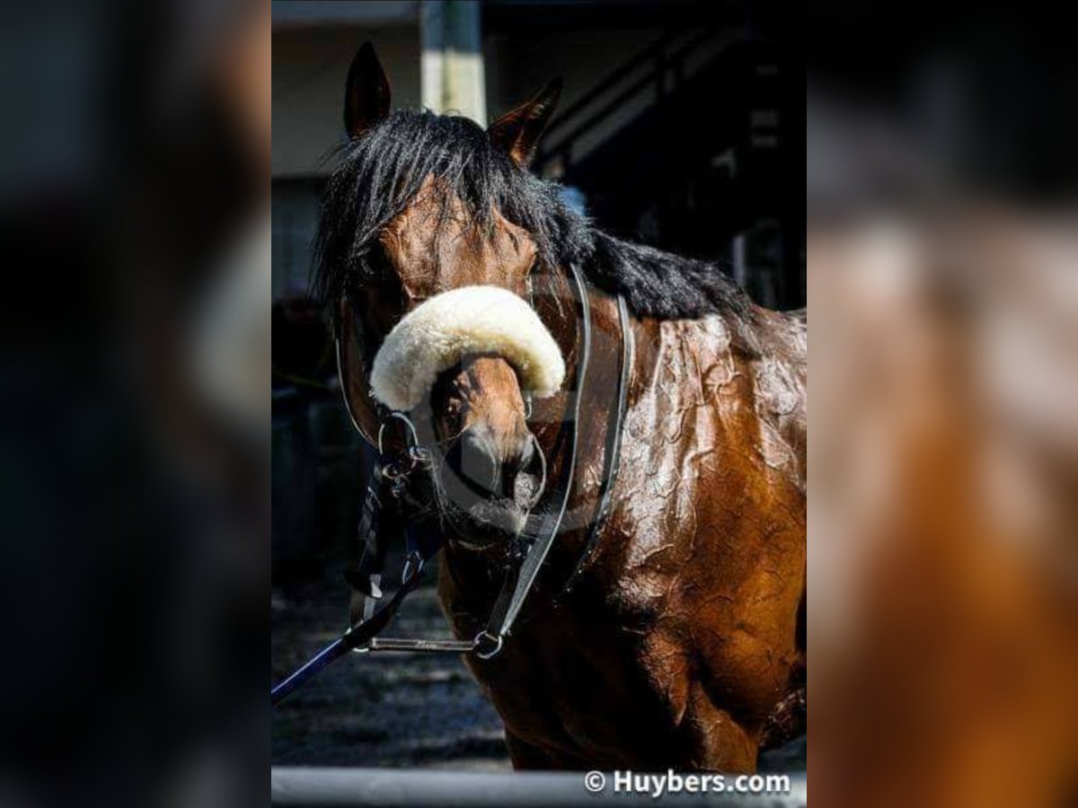
<path fill-rule="evenodd" d="M 813 3 L 813 792 L 1078 800 L 1078 59 L 1046 5 Z"/>

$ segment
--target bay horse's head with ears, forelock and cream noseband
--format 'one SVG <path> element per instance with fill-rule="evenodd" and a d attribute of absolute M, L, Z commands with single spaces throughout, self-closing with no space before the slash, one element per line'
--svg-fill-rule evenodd
<path fill-rule="evenodd" d="M 549 86 L 486 130 L 390 113 L 388 81 L 364 45 L 322 211 L 321 291 L 336 307 L 357 426 L 376 443 L 378 405 L 409 416 L 432 455 L 447 535 L 472 549 L 517 537 L 545 482 L 528 402 L 556 392 L 565 368 L 528 304 L 543 256 L 513 206 L 545 193 L 526 168 L 557 94 Z"/>

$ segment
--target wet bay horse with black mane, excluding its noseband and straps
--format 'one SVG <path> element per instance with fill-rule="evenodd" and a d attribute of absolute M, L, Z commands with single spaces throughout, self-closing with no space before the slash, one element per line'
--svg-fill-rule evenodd
<path fill-rule="evenodd" d="M 563 204 L 527 170 L 557 95 L 552 84 L 486 130 L 390 112 L 386 75 L 360 48 L 315 277 L 345 395 L 376 443 L 372 365 L 402 318 L 472 287 L 534 311 L 540 326 L 512 306 L 501 325 L 552 337 L 566 379 L 552 394 L 533 395 L 535 367 L 481 343 L 396 407 L 411 407 L 433 457 L 433 504 L 416 518 L 444 538 L 439 597 L 459 638 L 483 627 L 529 509 L 564 471 L 559 427 L 577 412 L 570 518 L 505 649 L 466 660 L 512 763 L 755 771 L 761 750 L 805 723 L 805 318 L 758 307 L 717 266 L 611 237 Z M 586 279 L 595 335 L 586 368 L 571 267 Z M 439 311 L 432 328 L 471 317 Z M 620 471 L 585 553 L 624 339 Z"/>

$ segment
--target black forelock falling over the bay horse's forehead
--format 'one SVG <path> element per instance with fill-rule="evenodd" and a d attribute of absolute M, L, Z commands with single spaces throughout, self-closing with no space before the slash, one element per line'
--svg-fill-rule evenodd
<path fill-rule="evenodd" d="M 420 194 L 436 237 L 467 229 L 493 240 L 501 217 L 530 236 L 549 266 L 588 252 L 585 221 L 561 200 L 558 186 L 521 169 L 475 123 L 395 112 L 343 148 L 327 184 L 314 290 L 329 310 L 377 280 L 385 270 L 373 249 L 378 236 Z"/>

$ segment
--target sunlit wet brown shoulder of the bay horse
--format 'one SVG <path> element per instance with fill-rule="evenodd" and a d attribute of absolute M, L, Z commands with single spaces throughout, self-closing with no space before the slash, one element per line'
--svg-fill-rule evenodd
<path fill-rule="evenodd" d="M 760 726 L 798 664 L 804 363 L 797 329 L 776 325 L 791 333 L 762 335 L 756 353 L 721 317 L 644 331 L 613 589 L 675 716 L 706 714 L 703 688 Z"/>

